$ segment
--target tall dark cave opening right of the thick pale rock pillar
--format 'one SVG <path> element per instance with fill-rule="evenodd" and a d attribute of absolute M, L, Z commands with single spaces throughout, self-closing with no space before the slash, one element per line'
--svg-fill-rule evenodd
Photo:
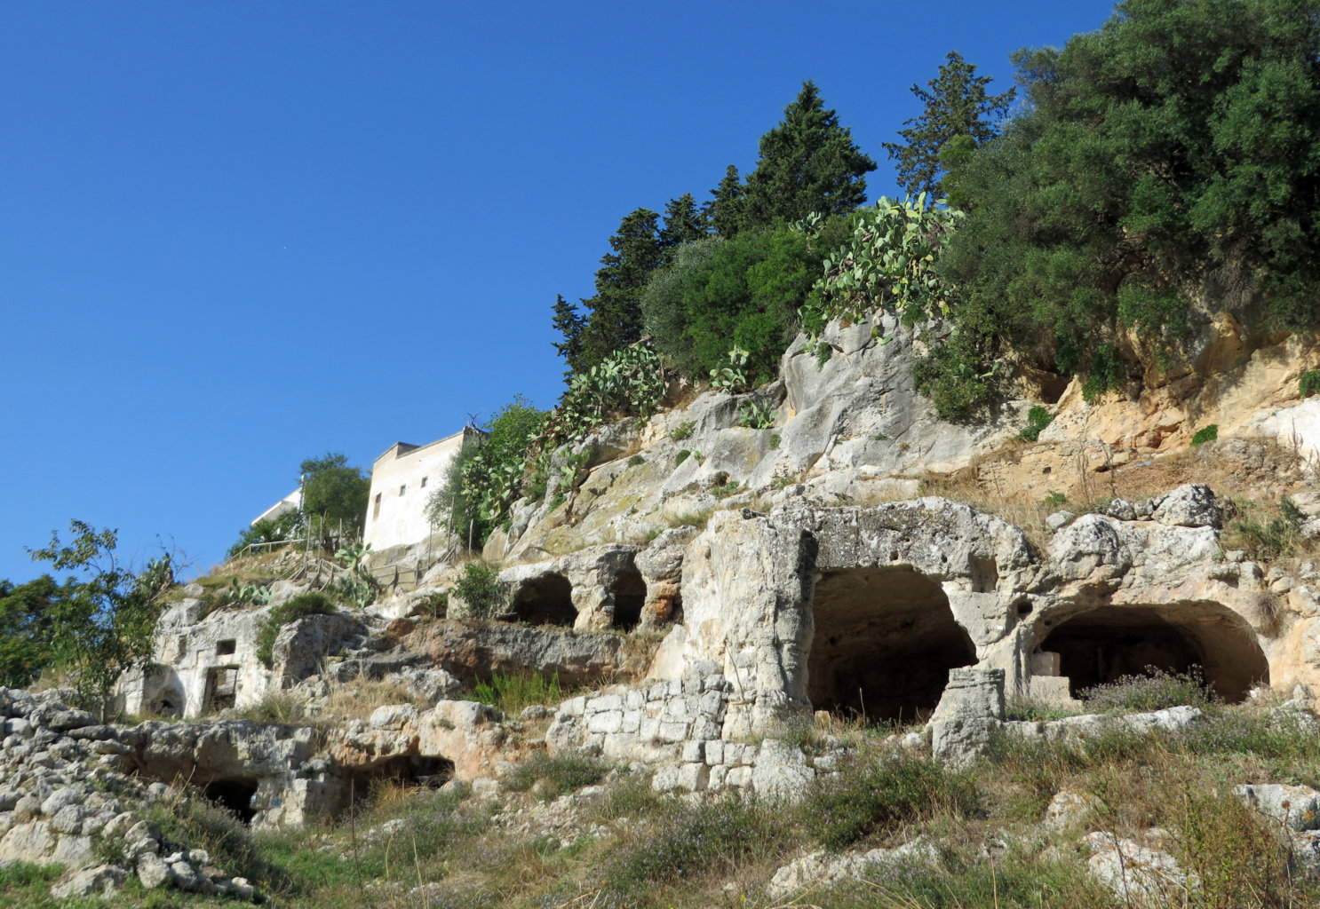
<path fill-rule="evenodd" d="M 909 567 L 830 571 L 812 594 L 807 697 L 816 710 L 911 723 L 977 650 L 940 584 Z"/>

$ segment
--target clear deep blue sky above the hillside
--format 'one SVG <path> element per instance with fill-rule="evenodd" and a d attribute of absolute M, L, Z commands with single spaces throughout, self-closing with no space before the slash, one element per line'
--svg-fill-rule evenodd
<path fill-rule="evenodd" d="M 517 393 L 619 219 L 708 197 L 804 79 L 880 161 L 908 88 L 1111 4 L 0 5 L 0 578 L 78 517 L 218 562 L 298 463 Z"/>

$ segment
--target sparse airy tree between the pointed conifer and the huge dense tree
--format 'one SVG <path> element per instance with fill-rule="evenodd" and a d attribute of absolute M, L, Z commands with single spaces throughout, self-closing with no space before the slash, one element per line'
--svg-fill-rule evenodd
<path fill-rule="evenodd" d="M 950 50 L 936 78 L 925 84 L 912 86 L 912 94 L 925 104 L 920 116 L 904 120 L 907 129 L 899 129 L 902 142 L 884 142 L 884 150 L 898 160 L 898 182 L 907 193 L 941 194 L 940 174 L 949 170 L 950 161 L 941 153 L 957 139 L 957 165 L 966 160 L 970 145 L 990 141 L 998 133 L 998 124 L 1007 116 L 1015 88 L 990 95 L 986 87 L 990 77 L 977 75 L 975 63 L 969 63 L 956 50 Z"/>

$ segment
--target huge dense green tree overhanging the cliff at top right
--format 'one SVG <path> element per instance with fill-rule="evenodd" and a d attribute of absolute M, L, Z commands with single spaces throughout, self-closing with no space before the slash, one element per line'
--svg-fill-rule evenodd
<path fill-rule="evenodd" d="M 1173 348 L 1204 297 L 1315 325 L 1317 50 L 1316 0 L 1127 0 L 1018 51 L 1027 111 L 961 174 L 960 352 L 932 375 L 952 389 L 1014 348 L 1096 393 L 1139 380 L 1129 330 Z"/>

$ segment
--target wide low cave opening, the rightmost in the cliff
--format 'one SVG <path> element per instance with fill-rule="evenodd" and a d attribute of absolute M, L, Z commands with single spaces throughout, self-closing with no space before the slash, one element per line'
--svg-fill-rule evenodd
<path fill-rule="evenodd" d="M 1269 683 L 1270 665 L 1250 625 L 1218 603 L 1102 606 L 1067 619 L 1040 643 L 1068 693 L 1140 675 L 1147 666 L 1185 673 L 1200 666 L 1205 683 L 1224 701 L 1246 699 Z"/>

